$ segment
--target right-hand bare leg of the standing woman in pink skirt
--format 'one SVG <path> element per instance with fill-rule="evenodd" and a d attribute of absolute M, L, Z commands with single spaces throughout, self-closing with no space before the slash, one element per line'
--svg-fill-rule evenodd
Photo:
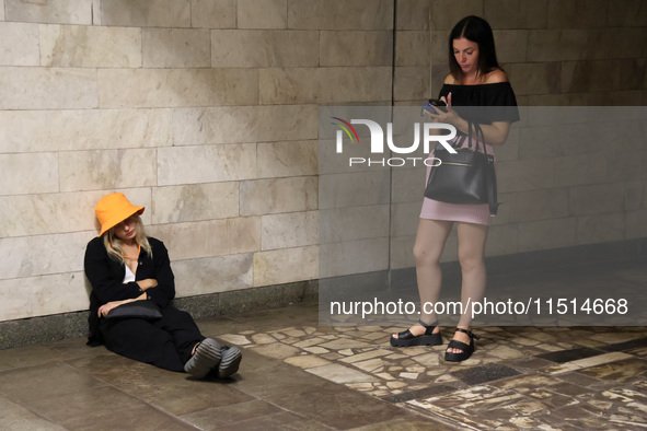
<path fill-rule="evenodd" d="M 463 284 L 461 288 L 461 302 L 463 303 L 463 315 L 459 321 L 459 328 L 470 329 L 472 325 L 472 308 L 464 310 L 475 301 L 481 301 L 485 294 L 487 272 L 485 269 L 485 240 L 487 240 L 488 226 L 475 223 L 458 223 L 459 233 L 459 261 Z M 470 343 L 470 337 L 457 331 L 453 339 Z M 461 349 L 448 349 L 451 353 L 460 353 Z"/>

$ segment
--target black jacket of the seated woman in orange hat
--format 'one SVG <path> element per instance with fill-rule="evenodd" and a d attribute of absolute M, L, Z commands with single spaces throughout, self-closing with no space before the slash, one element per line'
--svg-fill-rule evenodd
<path fill-rule="evenodd" d="M 171 270 L 169 252 L 159 240 L 148 237 L 152 248 L 152 257 L 143 249 L 139 254 L 139 266 L 135 275 L 136 280 L 154 278 L 158 286 L 146 291 L 150 301 L 153 301 L 161 308 L 169 306 L 171 300 L 175 298 L 175 278 Z M 142 290 L 139 284 L 132 281 L 124 283 L 125 267 L 108 257 L 107 251 L 103 245 L 101 237 L 95 237 L 85 248 L 85 259 L 83 263 L 85 276 L 92 284 L 90 293 L 90 345 L 101 343 L 101 334 L 99 333 L 99 307 L 112 301 L 123 301 L 141 295 Z"/>

